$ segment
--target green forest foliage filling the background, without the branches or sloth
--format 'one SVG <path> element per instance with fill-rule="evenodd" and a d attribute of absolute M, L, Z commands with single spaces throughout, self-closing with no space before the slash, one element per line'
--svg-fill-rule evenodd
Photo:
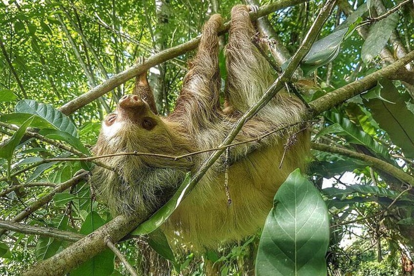
<path fill-rule="evenodd" d="M 271 1 L 263 0 L 260 4 L 268 2 Z M 338 1 L 318 41 L 300 64 L 299 71 L 305 76 L 299 72 L 297 86 L 307 102 L 366 78 L 413 48 L 412 4 L 389 13 L 385 19 L 369 20 L 390 11 L 399 2 Z M 21 222 L 89 234 L 110 221 L 106 207 L 95 201 L 85 181 L 65 191 L 54 189 L 79 170 L 99 165 L 75 158 L 91 155 L 100 121 L 122 95 L 131 91 L 133 82 L 116 87 L 73 114 L 65 115 L 59 108 L 135 64 L 139 57 L 147 58 L 195 38 L 212 13 L 219 12 L 228 20 L 231 7 L 238 3 L 0 1 L 0 219 L 11 220 L 49 196 L 46 204 Z M 288 53 L 286 62 L 303 41 L 321 4 L 320 0 L 309 1 L 271 13 L 267 19 L 274 33 L 267 34 L 269 38 L 263 39 L 264 44 Z M 223 37 L 225 42 L 226 35 Z M 272 43 L 273 39 L 278 42 Z M 192 55 L 190 51 L 151 68 L 149 82 L 161 114 L 172 110 L 186 74 L 186 62 Z M 220 66 L 223 64 L 225 57 L 221 51 Z M 312 142 L 375 157 L 413 176 L 414 75 L 412 64 L 406 68 L 393 79 L 378 79 L 375 87 L 321 114 L 311 126 Z M 221 73 L 226 78 L 226 72 Z M 27 131 L 42 138 L 25 135 Z M 403 267 L 407 271 L 413 269 L 410 254 L 413 255 L 414 246 L 414 194 L 407 183 L 367 160 L 318 150 L 312 150 L 307 176 L 329 208 L 328 274 L 394 275 Z M 306 183 L 311 190 L 310 183 L 302 178 L 299 182 Z M 181 188 L 185 191 L 186 183 Z M 320 203 L 319 194 L 312 191 L 315 201 L 307 201 L 305 206 L 290 202 L 289 208 L 281 210 L 283 200 L 292 196 L 285 189 L 276 194 L 279 203 L 269 210 L 260 243 L 258 233 L 200 256 L 186 250 L 173 252 L 157 230 L 149 236 L 123 241 L 118 247 L 142 275 L 202 275 L 209 263 L 221 275 L 248 274 L 254 269 L 256 252 L 258 262 L 269 257 L 263 251 L 266 238 L 275 244 L 281 242 L 279 233 L 287 228 L 275 227 L 277 232 L 269 228 L 275 217 L 277 222 L 289 208 L 313 208 L 314 202 Z M 136 234 L 148 234 L 159 227 L 180 202 L 179 195 L 180 191 Z M 326 213 L 320 217 L 326 218 Z M 308 232 L 317 232 L 314 229 L 321 224 L 317 219 L 308 223 Z M 327 226 L 321 231 L 317 234 L 323 236 L 325 245 Z M 345 245 L 349 236 L 352 239 Z M 0 274 L 20 275 L 36 261 L 69 244 L 48 236 L 8 231 L 0 240 Z M 274 253 L 275 247 L 267 246 Z M 109 275 L 112 271 L 114 275 L 127 273 L 124 265 L 105 251 L 72 274 Z"/>

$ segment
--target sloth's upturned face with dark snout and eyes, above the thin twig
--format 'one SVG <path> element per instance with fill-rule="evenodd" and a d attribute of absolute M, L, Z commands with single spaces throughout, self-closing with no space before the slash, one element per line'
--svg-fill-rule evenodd
<path fill-rule="evenodd" d="M 94 153 L 136 151 L 176 156 L 192 151 L 191 148 L 178 125 L 157 116 L 141 96 L 125 95 L 116 110 L 104 119 Z M 170 163 L 159 157 L 141 156 L 140 159 L 157 167 Z"/>

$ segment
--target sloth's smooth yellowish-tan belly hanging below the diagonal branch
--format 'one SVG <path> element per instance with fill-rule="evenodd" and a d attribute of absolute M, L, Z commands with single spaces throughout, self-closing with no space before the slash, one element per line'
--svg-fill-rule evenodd
<path fill-rule="evenodd" d="M 166 234 L 203 250 L 257 232 L 264 225 L 275 192 L 298 166 L 288 154 L 279 169 L 282 155 L 283 149 L 275 146 L 233 164 L 228 170 L 229 197 L 225 173 L 208 171 L 171 215 Z"/>

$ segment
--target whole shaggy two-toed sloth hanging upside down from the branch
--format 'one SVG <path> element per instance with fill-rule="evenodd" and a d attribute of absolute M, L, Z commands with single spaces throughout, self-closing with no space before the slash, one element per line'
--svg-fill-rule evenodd
<path fill-rule="evenodd" d="M 104 120 L 94 153 L 137 151 L 178 156 L 219 146 L 238 118 L 275 79 L 268 62 L 251 42 L 255 31 L 248 12 L 244 5 L 231 11 L 223 108 L 219 101 L 217 36 L 222 18 L 213 15 L 203 27 L 198 52 L 189 63 L 174 111 L 166 118 L 158 116 L 146 75 L 138 77 L 134 94 L 125 95 L 116 111 Z M 244 125 L 234 142 L 300 122 L 304 113 L 299 99 L 279 92 Z M 263 227 L 279 186 L 292 170 L 304 166 L 309 133 L 303 128 L 290 127 L 259 142 L 231 147 L 227 158 L 222 156 L 207 171 L 166 221 L 163 230 L 167 237 L 202 250 Z M 286 150 L 292 135 L 295 143 Z M 209 154 L 179 160 L 131 155 L 104 158 L 118 173 L 97 167 L 91 181 L 114 215 L 138 213 L 146 218 L 166 203 L 186 172 L 197 171 Z M 232 202 L 229 206 L 228 198 Z"/>

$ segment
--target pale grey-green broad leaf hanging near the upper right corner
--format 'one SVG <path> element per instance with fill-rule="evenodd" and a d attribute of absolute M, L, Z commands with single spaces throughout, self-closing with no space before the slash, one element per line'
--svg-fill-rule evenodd
<path fill-rule="evenodd" d="M 393 30 L 398 23 L 398 13 L 393 13 L 386 18 L 374 23 L 370 27 L 368 37 L 362 44 L 361 58 L 365 64 L 368 64 L 384 48 Z"/>

